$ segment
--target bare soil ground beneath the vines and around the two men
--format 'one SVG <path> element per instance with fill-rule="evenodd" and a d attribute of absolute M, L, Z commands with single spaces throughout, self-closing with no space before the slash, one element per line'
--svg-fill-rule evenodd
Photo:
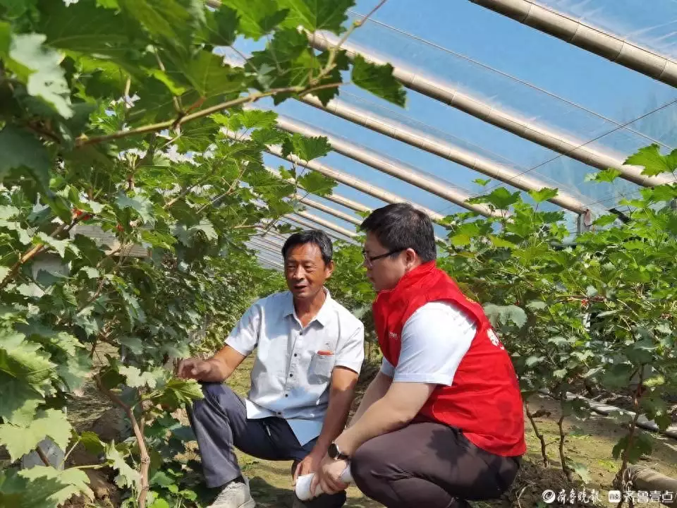
<path fill-rule="evenodd" d="M 250 368 L 252 359 L 240 366 L 238 371 L 231 377 L 228 384 L 239 394 L 246 394 L 250 386 Z M 360 390 L 366 387 L 366 383 L 374 375 L 376 368 L 365 369 L 360 382 Z M 361 391 L 356 397 L 355 406 L 361 397 Z M 69 409 L 69 418 L 78 430 L 96 430 L 102 433 L 107 439 L 113 439 L 119 435 L 123 428 L 123 422 L 116 411 L 110 410 L 109 402 L 101 397 L 93 385 L 86 385 L 83 389 L 83 396 L 76 399 L 73 407 Z M 566 503 L 568 506 L 597 506 L 609 507 L 607 502 L 607 492 L 610 488 L 616 471 L 621 465 L 620 460 L 613 458 L 611 450 L 614 444 L 621 437 L 623 430 L 609 418 L 602 416 L 592 416 L 587 421 L 580 421 L 575 418 L 565 419 L 565 430 L 568 433 L 564 450 L 566 455 L 573 461 L 580 462 L 587 466 L 589 479 L 585 484 L 570 482 L 561 470 L 559 462 L 559 404 L 544 396 L 535 396 L 530 400 L 530 409 L 533 412 L 539 411 L 542 414 L 536 418 L 539 430 L 544 435 L 547 446 L 547 456 L 549 467 L 543 465 L 541 447 L 533 432 L 531 425 L 527 421 L 526 436 L 528 452 L 523 463 L 518 478 L 513 484 L 510 492 L 503 499 L 491 502 L 474 502 L 475 508 L 503 508 L 503 507 L 546 507 L 556 506 L 554 504 L 544 504 L 542 502 L 542 492 L 546 489 L 560 492 L 571 489 L 581 490 L 583 487 L 590 492 L 597 490 L 599 492 L 599 502 L 596 504 L 583 504 L 575 502 Z M 182 418 L 183 419 L 183 418 Z M 186 418 L 187 421 L 187 418 Z M 654 452 L 650 457 L 642 459 L 645 464 L 657 471 L 673 478 L 677 478 L 677 441 L 666 437 L 649 433 L 654 440 Z M 197 444 L 192 446 L 195 454 L 186 457 L 187 459 L 199 459 L 197 455 Z M 291 485 L 291 462 L 274 462 L 255 459 L 252 456 L 238 452 L 240 466 L 251 481 L 252 494 L 260 508 L 285 508 L 291 507 L 293 502 L 293 486 Z M 82 464 L 86 460 L 85 456 L 73 454 L 73 461 Z M 576 478 L 578 480 L 578 478 Z M 97 506 L 116 507 L 118 497 L 116 497 L 116 488 L 104 475 L 94 475 L 92 477 L 94 492 L 97 493 Z M 73 507 L 80 505 L 74 504 Z M 377 508 L 381 505 L 364 497 L 359 490 L 351 487 L 348 490 L 348 502 L 346 508 Z M 561 506 L 561 504 L 560 504 Z"/>

